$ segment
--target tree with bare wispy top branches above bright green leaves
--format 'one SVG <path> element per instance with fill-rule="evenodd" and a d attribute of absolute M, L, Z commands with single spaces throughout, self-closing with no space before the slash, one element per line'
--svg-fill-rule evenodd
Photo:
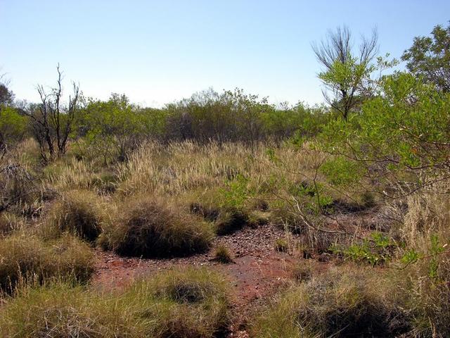
<path fill-rule="evenodd" d="M 364 80 L 374 70 L 371 61 L 378 53 L 378 33 L 373 30 L 370 39 L 362 38 L 359 52 L 353 51 L 352 33 L 347 27 L 338 27 L 328 32 L 327 39 L 313 44 L 316 58 L 325 68 L 319 78 L 333 98 L 323 91 L 323 96 L 332 108 L 347 120 L 349 113 L 361 103 L 364 96 Z"/>

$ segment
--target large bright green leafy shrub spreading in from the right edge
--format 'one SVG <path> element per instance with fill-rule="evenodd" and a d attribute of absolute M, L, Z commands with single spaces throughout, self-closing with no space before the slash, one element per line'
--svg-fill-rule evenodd
<path fill-rule="evenodd" d="M 409 73 L 383 77 L 380 86 L 381 95 L 368 99 L 361 114 L 327 125 L 322 149 L 358 163 L 364 175 L 385 182 L 377 186 L 387 196 L 448 178 L 450 93 L 442 95 Z M 392 182 L 399 180 L 404 183 L 396 192 Z"/>

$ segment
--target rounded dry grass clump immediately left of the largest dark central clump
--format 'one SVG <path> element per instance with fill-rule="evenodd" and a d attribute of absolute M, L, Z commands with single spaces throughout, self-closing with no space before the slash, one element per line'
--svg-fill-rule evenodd
<path fill-rule="evenodd" d="M 89 242 L 101 234 L 105 212 L 98 196 L 92 192 L 74 190 L 53 205 L 51 215 L 41 230 L 44 237 L 58 237 L 70 232 Z"/>

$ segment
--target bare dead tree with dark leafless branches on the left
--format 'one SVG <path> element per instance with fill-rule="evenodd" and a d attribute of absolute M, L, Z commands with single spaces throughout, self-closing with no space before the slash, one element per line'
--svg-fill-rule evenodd
<path fill-rule="evenodd" d="M 48 93 L 44 86 L 39 85 L 37 92 L 41 104 L 30 106 L 25 111 L 25 115 L 31 119 L 33 134 L 39 144 L 44 163 L 51 161 L 55 156 L 65 154 L 73 123 L 79 111 L 79 87 L 75 82 L 72 83 L 73 94 L 69 96 L 68 104 L 64 104 L 63 73 L 59 64 L 56 70 L 58 71 L 56 87 L 51 88 Z"/>

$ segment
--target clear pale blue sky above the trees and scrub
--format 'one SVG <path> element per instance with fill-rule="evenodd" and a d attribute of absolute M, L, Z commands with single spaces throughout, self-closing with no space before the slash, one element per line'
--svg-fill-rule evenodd
<path fill-rule="evenodd" d="M 271 102 L 322 101 L 311 42 L 349 26 L 377 27 L 399 57 L 413 37 L 450 20 L 450 1 L 0 0 L 0 73 L 18 99 L 37 100 L 56 64 L 86 96 L 124 93 L 146 106 L 213 87 Z"/>

